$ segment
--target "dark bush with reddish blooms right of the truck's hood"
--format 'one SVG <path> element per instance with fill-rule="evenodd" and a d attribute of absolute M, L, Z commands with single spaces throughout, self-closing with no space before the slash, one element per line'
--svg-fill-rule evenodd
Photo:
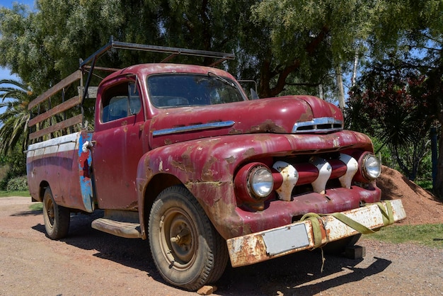
<path fill-rule="evenodd" d="M 423 157 L 430 152 L 430 127 L 436 115 L 423 91 L 425 74 L 402 66 L 398 61 L 367 65 L 350 92 L 346 124 L 376 137 L 381 142 L 376 153 L 389 148 L 389 166 L 398 166 L 415 180 Z"/>

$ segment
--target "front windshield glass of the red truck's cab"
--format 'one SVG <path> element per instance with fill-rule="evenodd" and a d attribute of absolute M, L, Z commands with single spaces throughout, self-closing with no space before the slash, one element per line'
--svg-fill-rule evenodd
<path fill-rule="evenodd" d="M 156 108 L 205 106 L 245 101 L 231 79 L 194 74 L 148 77 L 149 98 Z"/>

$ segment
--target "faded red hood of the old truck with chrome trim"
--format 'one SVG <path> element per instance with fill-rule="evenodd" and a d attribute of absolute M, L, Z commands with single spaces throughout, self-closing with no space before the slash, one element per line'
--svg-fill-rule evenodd
<path fill-rule="evenodd" d="M 159 109 L 150 125 L 152 148 L 222 135 L 320 133 L 341 129 L 340 109 L 314 96 Z"/>

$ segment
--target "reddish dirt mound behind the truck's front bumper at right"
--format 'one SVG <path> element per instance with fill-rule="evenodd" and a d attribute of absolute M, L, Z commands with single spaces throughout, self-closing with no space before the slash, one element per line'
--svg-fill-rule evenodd
<path fill-rule="evenodd" d="M 401 224 L 443 223 L 443 203 L 400 172 L 382 166 L 376 183 L 381 189 L 382 200 L 402 200 L 406 219 Z"/>

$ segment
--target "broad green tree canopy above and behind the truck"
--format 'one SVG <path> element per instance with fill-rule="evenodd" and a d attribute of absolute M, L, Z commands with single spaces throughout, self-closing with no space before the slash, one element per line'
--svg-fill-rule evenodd
<path fill-rule="evenodd" d="M 79 57 L 88 57 L 113 35 L 124 42 L 234 50 L 237 59 L 226 69 L 258 80 L 260 96 L 277 96 L 287 86 L 330 83 L 338 65 L 355 54 L 355 32 L 367 29 L 359 21 L 367 1 L 361 7 L 355 1 L 316 2 L 38 0 L 35 11 L 18 5 L 0 11 L 0 64 L 40 91 L 40 85 L 73 72 Z M 154 61 L 151 55 L 126 52 L 102 59 L 111 67 Z"/>

